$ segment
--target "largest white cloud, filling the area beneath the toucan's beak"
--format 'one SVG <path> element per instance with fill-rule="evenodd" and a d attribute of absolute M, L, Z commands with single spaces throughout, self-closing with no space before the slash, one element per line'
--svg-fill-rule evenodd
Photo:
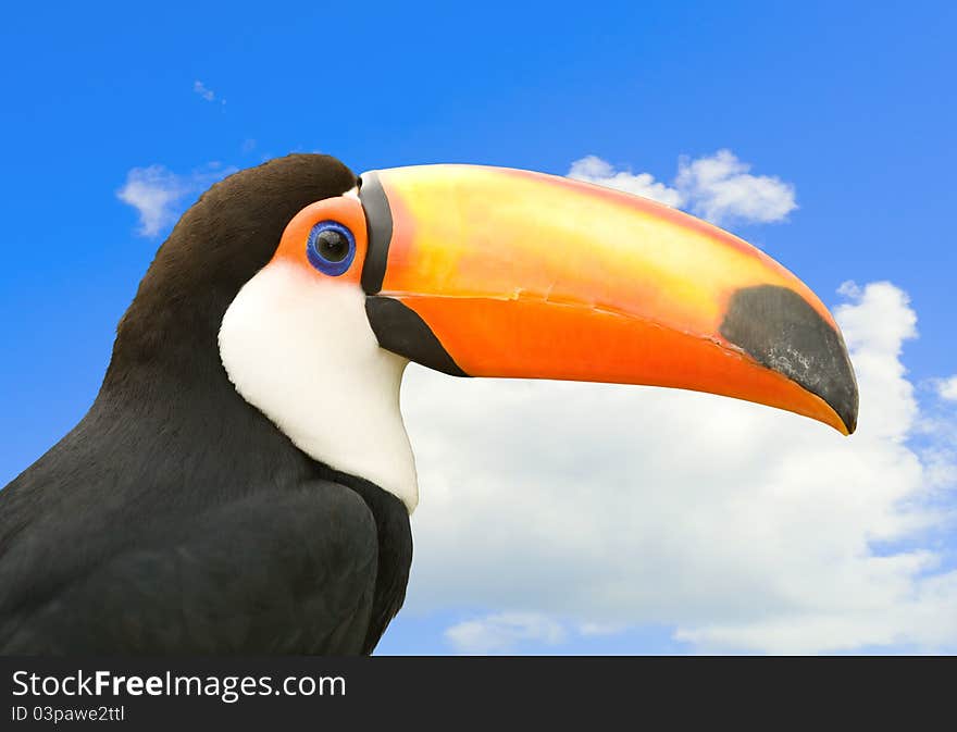
<path fill-rule="evenodd" d="M 408 609 L 663 624 L 705 650 L 957 648 L 957 572 L 934 538 L 955 473 L 947 450 L 910 444 L 916 317 L 888 283 L 842 291 L 861 392 L 849 438 L 704 394 L 410 367 Z"/>

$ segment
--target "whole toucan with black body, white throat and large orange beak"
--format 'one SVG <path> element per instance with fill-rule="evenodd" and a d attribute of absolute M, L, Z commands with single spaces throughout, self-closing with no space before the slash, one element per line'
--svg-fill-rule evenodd
<path fill-rule="evenodd" d="M 0 650 L 372 653 L 412 560 L 410 360 L 857 421 L 826 308 L 716 226 L 560 176 L 290 154 L 182 216 L 89 411 L 0 491 Z"/>

